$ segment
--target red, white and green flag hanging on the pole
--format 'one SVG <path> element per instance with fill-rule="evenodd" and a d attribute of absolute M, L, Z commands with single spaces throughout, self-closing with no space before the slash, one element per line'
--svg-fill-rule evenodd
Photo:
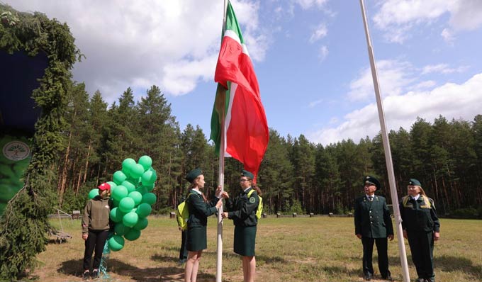
<path fill-rule="evenodd" d="M 210 139 L 215 142 L 215 152 L 220 153 L 224 112 L 225 156 L 242 162 L 245 169 L 254 174 L 255 181 L 268 146 L 269 129 L 259 96 L 258 80 L 229 1 L 214 81 L 218 82 L 218 90 L 211 117 Z"/>

